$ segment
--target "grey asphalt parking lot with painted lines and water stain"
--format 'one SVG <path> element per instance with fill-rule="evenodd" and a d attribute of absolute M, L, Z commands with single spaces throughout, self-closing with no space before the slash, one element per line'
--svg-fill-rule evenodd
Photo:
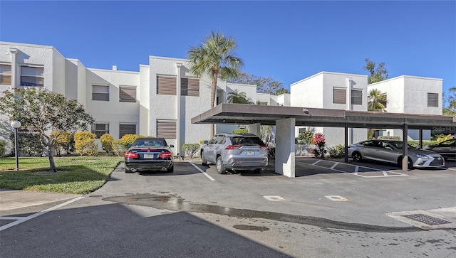
<path fill-rule="evenodd" d="M 82 257 L 453 257 L 456 166 L 403 172 L 296 157 L 296 178 L 287 178 L 274 161 L 260 174 L 227 175 L 198 161 L 176 162 L 174 173 L 120 164 L 93 193 L 0 215 L 26 217 L 0 234 L 2 252 L 16 257 L 29 257 L 22 239 L 49 257 L 97 245 Z M 61 244 L 43 249 L 51 242 Z"/>

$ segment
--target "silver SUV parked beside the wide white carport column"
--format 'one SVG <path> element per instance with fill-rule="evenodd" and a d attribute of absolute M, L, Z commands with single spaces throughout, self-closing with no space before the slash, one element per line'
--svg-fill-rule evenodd
<path fill-rule="evenodd" d="M 268 149 L 255 134 L 217 134 L 201 146 L 201 163 L 214 163 L 220 174 L 227 169 L 260 173 L 268 166 Z"/>

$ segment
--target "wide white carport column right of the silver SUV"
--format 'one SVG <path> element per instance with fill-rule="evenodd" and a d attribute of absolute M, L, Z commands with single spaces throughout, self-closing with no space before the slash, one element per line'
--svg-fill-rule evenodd
<path fill-rule="evenodd" d="M 294 127 L 296 119 L 276 121 L 276 173 L 295 177 Z"/>

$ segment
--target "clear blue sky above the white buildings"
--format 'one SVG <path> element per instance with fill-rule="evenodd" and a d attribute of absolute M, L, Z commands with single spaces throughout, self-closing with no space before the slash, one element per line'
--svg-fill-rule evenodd
<path fill-rule="evenodd" d="M 321 71 L 367 75 L 365 58 L 456 87 L 456 1 L 0 0 L 0 41 L 52 45 L 87 68 L 187 58 L 211 31 L 237 41 L 245 72 L 287 89 Z"/>

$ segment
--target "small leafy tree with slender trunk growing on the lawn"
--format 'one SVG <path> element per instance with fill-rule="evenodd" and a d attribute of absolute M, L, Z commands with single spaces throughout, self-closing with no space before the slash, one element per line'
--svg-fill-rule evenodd
<path fill-rule="evenodd" d="M 49 157 L 49 170 L 56 172 L 52 149 L 60 134 L 78 129 L 88 129 L 94 119 L 76 100 L 43 87 L 14 88 L 0 97 L 0 112 L 23 127 L 33 127 L 40 134 L 41 144 Z M 51 135 L 51 131 L 58 131 Z"/>

